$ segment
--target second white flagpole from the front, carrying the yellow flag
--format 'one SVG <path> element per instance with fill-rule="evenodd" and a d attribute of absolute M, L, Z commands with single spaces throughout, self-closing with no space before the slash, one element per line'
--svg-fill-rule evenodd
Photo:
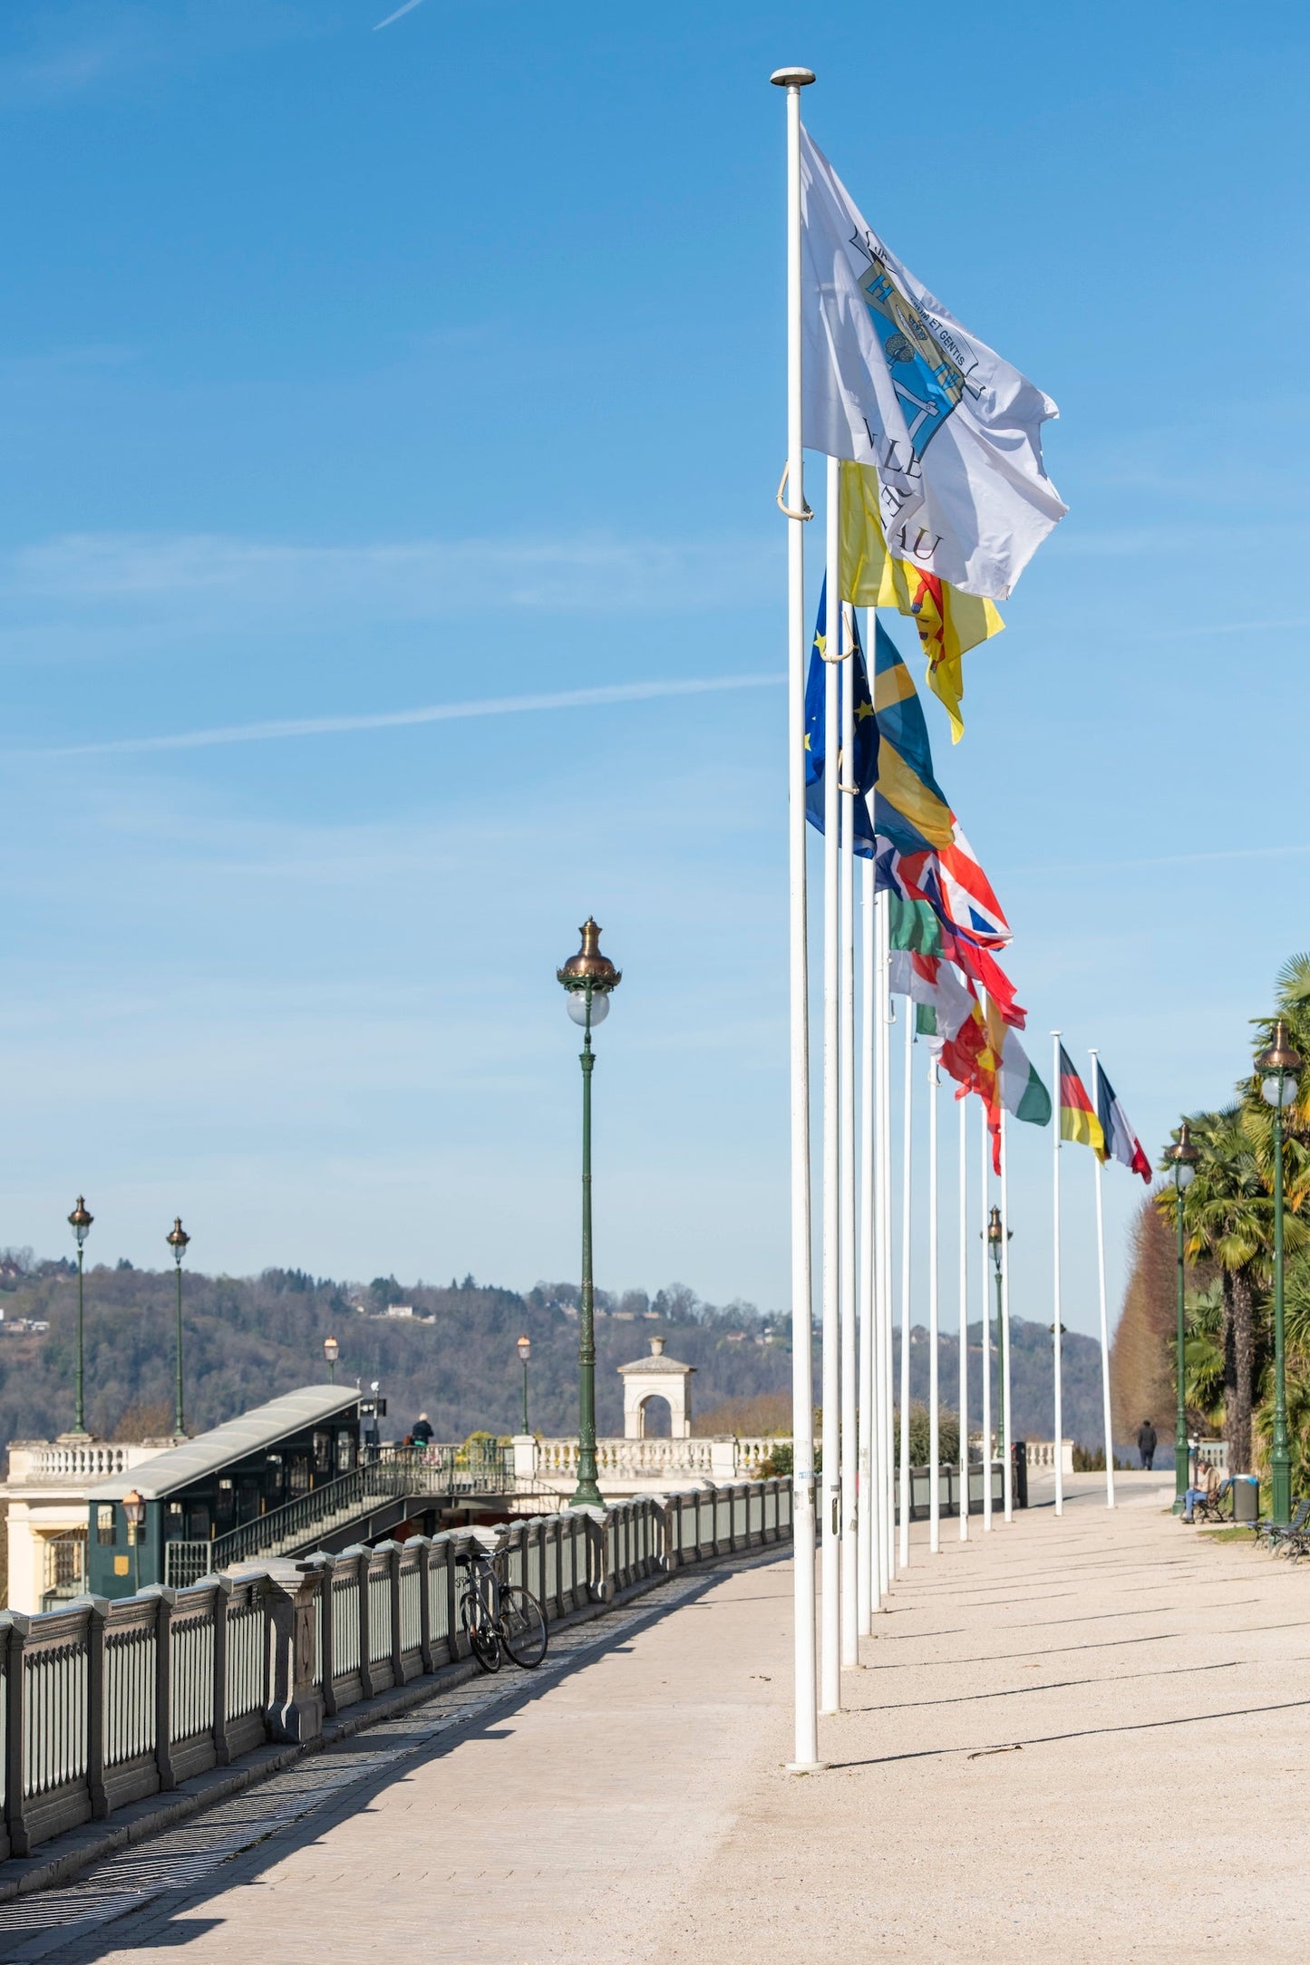
<path fill-rule="evenodd" d="M 827 637 L 823 664 L 823 1594 L 819 1712 L 841 1712 L 841 1132 L 839 1132 L 839 668 L 837 603 L 841 466 L 827 460 Z"/>

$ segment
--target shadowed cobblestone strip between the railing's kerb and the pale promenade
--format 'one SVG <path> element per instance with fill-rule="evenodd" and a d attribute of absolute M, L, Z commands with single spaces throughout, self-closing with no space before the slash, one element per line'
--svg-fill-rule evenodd
<path fill-rule="evenodd" d="M 179 1896 L 204 1884 L 244 1849 L 334 1800 L 344 1800 L 352 1786 L 375 1782 L 399 1763 L 430 1749 L 442 1735 L 454 1741 L 467 1725 L 540 1696 L 640 1625 L 699 1596 L 727 1570 L 754 1568 L 784 1556 L 790 1556 L 790 1548 L 752 1550 L 701 1564 L 589 1623 L 552 1629 L 546 1662 L 534 1672 L 507 1668 L 497 1676 L 471 1678 L 450 1692 L 436 1692 L 422 1706 L 412 1706 L 393 1719 L 379 1719 L 367 1731 L 297 1761 L 295 1767 L 234 1800 L 216 1802 L 183 1827 L 165 1829 L 96 1863 L 73 1884 L 35 1890 L 31 1896 L 0 1904 L 2 1965 L 26 1965 L 29 1959 L 61 1959 L 65 1965 L 75 1965 L 79 1939 L 92 1939 L 86 1957 L 98 1957 L 102 1943 L 92 1934 L 102 1926 L 143 1912 L 159 1898 L 169 1900 L 161 1910 L 173 1916 Z M 122 1936 L 132 1941 L 128 1932 Z"/>

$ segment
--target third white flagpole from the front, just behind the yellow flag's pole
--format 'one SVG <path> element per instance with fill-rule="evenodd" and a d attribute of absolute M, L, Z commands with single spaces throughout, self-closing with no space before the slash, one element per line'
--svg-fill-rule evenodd
<path fill-rule="evenodd" d="M 841 474 L 841 466 L 839 466 Z M 841 501 L 841 476 L 837 479 Z M 841 511 L 841 503 L 839 503 Z M 841 593 L 841 568 L 837 593 Z M 860 1411 L 856 1295 L 854 1295 L 854 611 L 839 599 L 841 646 L 841 1032 L 837 1077 L 841 1085 L 839 1167 L 841 1167 L 841 1662 L 854 1670 L 860 1662 Z"/>

